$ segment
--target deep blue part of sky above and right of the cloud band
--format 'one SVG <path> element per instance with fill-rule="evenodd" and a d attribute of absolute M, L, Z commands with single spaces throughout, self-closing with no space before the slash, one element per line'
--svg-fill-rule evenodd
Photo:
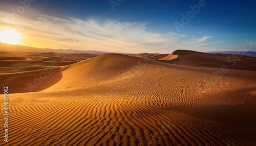
<path fill-rule="evenodd" d="M 191 10 L 190 6 L 198 5 L 200 1 L 37 0 L 31 3 L 31 8 L 40 14 L 62 19 L 72 17 L 84 21 L 96 19 L 102 23 L 106 20 L 146 23 L 144 31 L 147 33 L 172 32 L 186 35 L 181 37 L 183 39 L 176 37 L 175 42 L 186 43 L 184 47 L 193 46 L 198 51 L 237 51 L 243 48 L 244 39 L 252 38 L 256 41 L 256 1 L 205 0 L 205 7 L 200 7 L 199 13 L 184 25 L 181 21 L 182 14 L 187 15 Z M 110 2 L 118 6 L 113 10 Z M 12 4 L 12 7 L 20 5 L 17 1 L 0 3 Z M 184 27 L 178 31 L 175 22 Z M 252 51 L 255 51 L 255 47 L 252 47 Z"/>

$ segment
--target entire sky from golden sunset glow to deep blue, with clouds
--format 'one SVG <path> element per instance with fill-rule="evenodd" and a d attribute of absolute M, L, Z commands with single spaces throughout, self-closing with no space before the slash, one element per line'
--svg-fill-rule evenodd
<path fill-rule="evenodd" d="M 245 39 L 256 44 L 255 6 L 254 0 L 2 0 L 0 38 L 116 53 L 241 51 Z"/>

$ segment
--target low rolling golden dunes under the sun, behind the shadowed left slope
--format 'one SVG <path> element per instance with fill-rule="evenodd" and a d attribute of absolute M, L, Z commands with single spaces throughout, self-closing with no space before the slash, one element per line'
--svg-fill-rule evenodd
<path fill-rule="evenodd" d="M 46 57 L 45 55 L 49 55 L 49 53 L 44 53 L 43 56 L 41 56 L 42 54 L 24 53 L 25 55 L 20 57 L 23 53 L 8 53 L 9 55 L 7 53 L 1 54 L 3 56 L 0 57 L 0 76 L 1 74 L 54 68 L 57 66 L 73 64 L 83 60 L 81 58 L 72 59 L 65 57 L 67 54 L 61 54 L 63 57 L 56 56 L 56 54 L 54 54 L 55 57 Z M 10 54 L 13 54 L 13 56 Z"/>

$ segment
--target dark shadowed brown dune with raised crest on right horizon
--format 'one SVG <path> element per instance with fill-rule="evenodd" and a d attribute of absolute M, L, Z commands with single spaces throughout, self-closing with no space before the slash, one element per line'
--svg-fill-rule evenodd
<path fill-rule="evenodd" d="M 173 52 L 173 55 L 178 55 L 178 57 L 172 60 L 160 59 L 159 61 L 186 66 L 221 68 L 225 65 L 230 69 L 256 70 L 254 65 L 256 62 L 255 57 L 232 54 L 207 54 L 185 50 L 177 50 Z"/>

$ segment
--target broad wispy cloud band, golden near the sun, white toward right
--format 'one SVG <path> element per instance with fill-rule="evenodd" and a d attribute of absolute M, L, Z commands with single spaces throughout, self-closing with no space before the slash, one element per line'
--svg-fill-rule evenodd
<path fill-rule="evenodd" d="M 7 12 L 0 12 L 7 16 Z M 5 20 L 0 20 L 0 23 Z M 24 45 L 35 47 L 69 48 L 74 39 L 79 36 L 81 44 L 75 46 L 78 50 L 98 50 L 108 52 L 160 52 L 171 53 L 177 49 L 188 48 L 188 44 L 201 46 L 212 36 L 201 38 L 173 32 L 156 33 L 148 31 L 148 23 L 120 22 L 117 20 L 81 20 L 72 17 L 54 17 L 43 14 L 21 15 L 10 21 L 8 25 L 24 34 Z M 5 26 L 1 25 L 0 29 Z M 31 44 L 33 43 L 33 44 Z M 191 46 L 190 46 L 191 47 Z"/>

